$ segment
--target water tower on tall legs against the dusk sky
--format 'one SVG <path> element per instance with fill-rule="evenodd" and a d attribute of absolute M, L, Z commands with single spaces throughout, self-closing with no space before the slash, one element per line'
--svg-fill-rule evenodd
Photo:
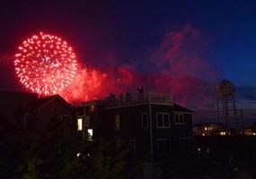
<path fill-rule="evenodd" d="M 217 119 L 225 124 L 226 129 L 231 127 L 231 116 L 237 120 L 235 107 L 234 84 L 228 80 L 222 80 L 216 85 L 216 112 Z M 236 121 L 237 124 L 237 121 Z M 238 126 L 237 126 L 238 127 Z"/>

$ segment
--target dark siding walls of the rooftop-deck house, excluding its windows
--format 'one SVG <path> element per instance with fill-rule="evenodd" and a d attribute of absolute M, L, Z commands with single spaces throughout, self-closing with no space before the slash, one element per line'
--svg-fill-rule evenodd
<path fill-rule="evenodd" d="M 127 107 L 103 107 L 96 106 L 96 111 L 91 113 L 91 126 L 93 129 L 101 129 L 108 134 L 111 139 L 123 139 L 125 141 L 136 141 L 136 154 L 142 158 L 148 159 L 151 151 L 151 134 L 150 134 L 150 111 L 152 117 L 152 144 L 154 159 L 158 158 L 158 140 L 167 139 L 171 142 L 171 153 L 179 150 L 179 143 L 186 139 L 193 139 L 192 132 L 192 113 L 179 112 L 184 116 L 184 124 L 174 123 L 174 111 L 172 104 L 137 104 Z M 141 123 L 142 113 L 147 113 L 148 128 L 143 129 Z M 170 127 L 157 128 L 156 114 L 169 114 Z M 120 129 L 115 130 L 115 115 L 120 115 Z"/>

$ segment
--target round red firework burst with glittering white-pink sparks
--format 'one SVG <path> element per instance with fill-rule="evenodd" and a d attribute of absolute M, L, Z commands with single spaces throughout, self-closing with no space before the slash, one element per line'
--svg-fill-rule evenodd
<path fill-rule="evenodd" d="M 77 71 L 72 47 L 61 38 L 42 32 L 23 41 L 14 66 L 22 84 L 40 95 L 63 92 Z"/>

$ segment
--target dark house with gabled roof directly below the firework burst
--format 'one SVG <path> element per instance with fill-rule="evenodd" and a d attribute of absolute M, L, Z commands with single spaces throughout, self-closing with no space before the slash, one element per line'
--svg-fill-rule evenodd
<path fill-rule="evenodd" d="M 38 98 L 36 94 L 0 91 L 0 133 L 61 131 L 74 128 L 74 109 L 60 96 Z"/>

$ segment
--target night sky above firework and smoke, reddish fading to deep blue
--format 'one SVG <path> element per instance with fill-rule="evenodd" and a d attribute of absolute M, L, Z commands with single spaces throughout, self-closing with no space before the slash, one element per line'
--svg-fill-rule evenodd
<path fill-rule="evenodd" d="M 256 86 L 256 1 L 54 2 L 1 1 L 1 55 L 13 54 L 23 38 L 44 30 L 67 38 L 91 64 L 113 52 L 122 63 L 137 61 L 143 69 L 166 33 L 190 24 L 201 32 L 204 58 L 216 71 L 237 86 Z"/>

